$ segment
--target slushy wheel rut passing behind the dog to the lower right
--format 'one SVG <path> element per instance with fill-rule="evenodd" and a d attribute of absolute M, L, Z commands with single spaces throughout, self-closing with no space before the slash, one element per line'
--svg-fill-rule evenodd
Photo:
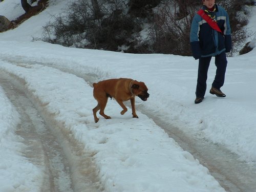
<path fill-rule="evenodd" d="M 92 85 L 100 77 L 97 74 L 82 74 L 79 70 L 68 69 L 67 66 L 59 66 L 51 63 L 41 65 L 53 67 L 65 73 L 71 73 L 83 78 Z M 127 103 L 126 103 L 127 104 Z M 129 103 L 128 103 L 129 105 Z M 183 150 L 191 153 L 202 165 L 207 167 L 210 174 L 230 192 L 254 192 L 256 183 L 256 167 L 250 166 L 247 162 L 240 160 L 240 157 L 221 145 L 216 145 L 205 139 L 195 137 L 193 134 L 184 133 L 177 127 L 169 125 L 166 119 L 161 119 L 161 111 L 158 114 L 148 111 L 144 105 L 138 105 L 137 110 L 152 118 L 168 135 L 175 139 Z M 166 123 L 167 122 L 167 123 Z"/>

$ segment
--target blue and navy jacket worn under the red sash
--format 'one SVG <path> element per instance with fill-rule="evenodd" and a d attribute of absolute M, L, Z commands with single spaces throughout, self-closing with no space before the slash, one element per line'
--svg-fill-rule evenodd
<path fill-rule="evenodd" d="M 223 51 L 231 51 L 231 31 L 228 14 L 221 6 L 216 5 L 217 24 L 223 34 L 212 29 L 199 15 L 193 18 L 190 29 L 190 45 L 193 57 L 208 57 L 219 55 Z"/>

